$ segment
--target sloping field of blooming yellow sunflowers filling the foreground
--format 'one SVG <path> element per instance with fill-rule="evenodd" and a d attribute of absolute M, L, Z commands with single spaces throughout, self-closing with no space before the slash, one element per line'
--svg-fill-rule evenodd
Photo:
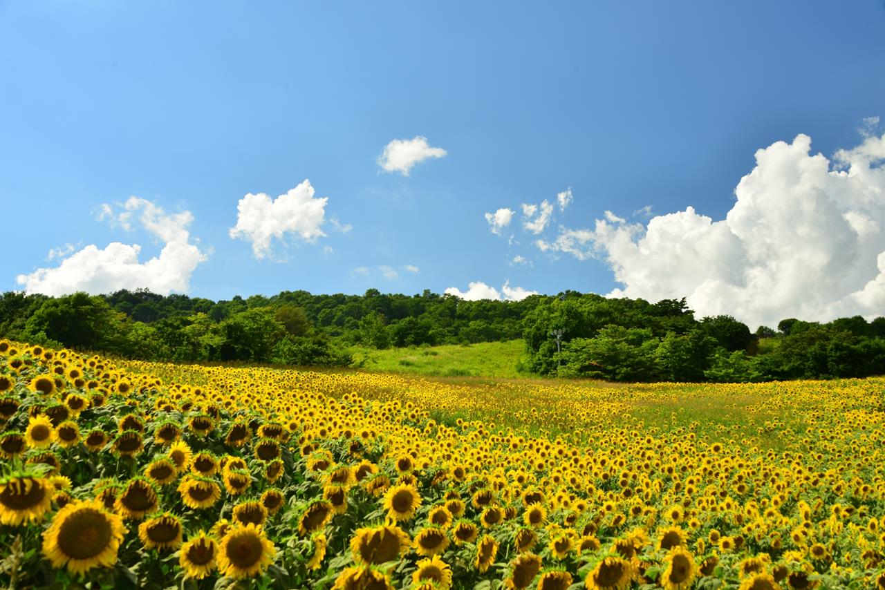
<path fill-rule="evenodd" d="M 0 341 L 0 585 L 885 588 L 883 391 Z"/>

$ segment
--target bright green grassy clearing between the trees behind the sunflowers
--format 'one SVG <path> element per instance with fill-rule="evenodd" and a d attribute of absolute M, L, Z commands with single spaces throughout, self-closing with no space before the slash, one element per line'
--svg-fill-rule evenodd
<path fill-rule="evenodd" d="M 364 371 L 511 379 L 520 376 L 516 367 L 525 350 L 525 341 L 514 340 L 387 350 L 355 346 L 350 353 L 353 366 Z"/>

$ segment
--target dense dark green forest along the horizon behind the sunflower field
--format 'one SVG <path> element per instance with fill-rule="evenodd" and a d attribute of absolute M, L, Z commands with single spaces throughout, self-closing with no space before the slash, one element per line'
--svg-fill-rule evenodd
<path fill-rule="evenodd" d="M 885 318 L 785 318 L 755 331 L 696 318 L 684 299 L 649 303 L 567 291 L 519 302 L 420 295 L 235 296 L 121 290 L 0 295 L 0 336 L 126 358 L 348 366 L 373 349 L 525 341 L 519 372 L 648 382 L 750 382 L 885 373 Z M 514 360 L 514 362 L 516 362 Z"/>

